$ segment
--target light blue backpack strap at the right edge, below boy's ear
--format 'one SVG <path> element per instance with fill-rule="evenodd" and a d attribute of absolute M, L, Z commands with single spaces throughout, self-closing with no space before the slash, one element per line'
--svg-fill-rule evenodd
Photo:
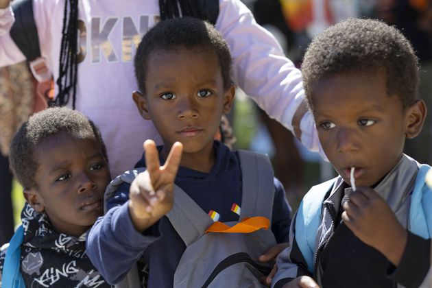
<path fill-rule="evenodd" d="M 432 190 L 424 182 L 430 169 L 429 165 L 420 166 L 409 208 L 409 230 L 424 239 L 432 236 Z"/>

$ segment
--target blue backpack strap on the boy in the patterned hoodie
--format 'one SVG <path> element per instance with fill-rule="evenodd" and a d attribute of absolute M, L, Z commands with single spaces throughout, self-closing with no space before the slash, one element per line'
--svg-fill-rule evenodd
<path fill-rule="evenodd" d="M 24 228 L 19 226 L 12 239 L 10 239 L 8 250 L 6 250 L 3 274 L 1 275 L 2 287 L 25 288 L 24 279 L 21 275 L 21 244 L 24 241 Z"/>

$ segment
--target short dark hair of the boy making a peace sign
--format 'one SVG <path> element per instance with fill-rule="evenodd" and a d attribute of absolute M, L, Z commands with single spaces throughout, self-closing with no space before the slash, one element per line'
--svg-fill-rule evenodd
<path fill-rule="evenodd" d="M 224 88 L 232 84 L 230 80 L 231 54 L 224 38 L 207 21 L 182 17 L 167 19 L 154 25 L 144 35 L 136 49 L 135 76 L 138 88 L 143 95 L 145 95 L 149 55 L 153 51 L 176 51 L 180 48 L 214 51 L 221 67 Z"/>

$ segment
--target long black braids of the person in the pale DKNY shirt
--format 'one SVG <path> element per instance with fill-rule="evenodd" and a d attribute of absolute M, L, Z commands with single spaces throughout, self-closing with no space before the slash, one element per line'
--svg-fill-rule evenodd
<path fill-rule="evenodd" d="M 77 85 L 77 22 L 78 1 L 66 0 L 64 3 L 62 42 L 60 46 L 60 65 L 58 71 L 58 95 L 51 106 L 64 106 L 72 98 L 75 109 Z M 191 16 L 208 20 L 202 12 L 200 0 L 159 0 L 160 19 L 173 19 Z"/>

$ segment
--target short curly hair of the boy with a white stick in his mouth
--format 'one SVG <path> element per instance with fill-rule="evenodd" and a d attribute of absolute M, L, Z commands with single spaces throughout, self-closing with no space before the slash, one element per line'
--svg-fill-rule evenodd
<path fill-rule="evenodd" d="M 418 98 L 418 58 L 398 29 L 372 19 L 348 19 L 313 39 L 302 64 L 303 86 L 311 95 L 325 77 L 350 72 L 387 75 L 387 94 L 397 95 L 403 108 Z"/>

